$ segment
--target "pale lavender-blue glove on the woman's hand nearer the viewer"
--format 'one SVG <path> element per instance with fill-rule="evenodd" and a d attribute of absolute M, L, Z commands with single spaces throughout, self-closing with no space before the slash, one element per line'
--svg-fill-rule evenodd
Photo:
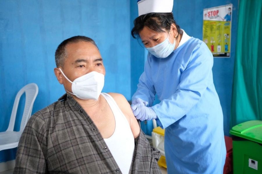
<path fill-rule="evenodd" d="M 132 105 L 131 109 L 136 119 L 140 119 L 141 121 L 157 118 L 155 111 L 151 107 L 146 107 L 144 103 Z"/>

